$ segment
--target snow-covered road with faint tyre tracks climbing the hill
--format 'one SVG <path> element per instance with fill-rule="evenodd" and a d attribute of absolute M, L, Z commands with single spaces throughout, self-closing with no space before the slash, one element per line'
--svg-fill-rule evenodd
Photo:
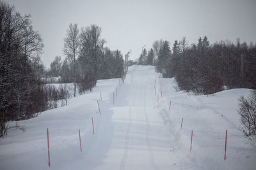
<path fill-rule="evenodd" d="M 116 103 L 111 111 L 111 128 L 100 128 L 100 143 L 111 138 L 111 144 L 102 164 L 90 164 L 99 160 L 102 148 L 95 146 L 85 160 L 88 169 L 173 169 L 195 167 L 177 148 L 175 140 L 163 118 L 157 113 L 154 96 L 154 67 L 134 67 L 118 90 Z M 102 113 L 106 114 L 106 113 Z M 108 136 L 113 131 L 112 136 Z M 106 134 L 105 134 L 106 132 Z M 179 167 L 179 168 L 178 168 Z"/>

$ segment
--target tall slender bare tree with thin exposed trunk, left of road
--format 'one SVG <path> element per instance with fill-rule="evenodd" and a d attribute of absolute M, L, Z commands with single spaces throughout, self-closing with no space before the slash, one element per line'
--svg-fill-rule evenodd
<path fill-rule="evenodd" d="M 64 39 L 63 52 L 74 62 L 74 97 L 76 97 L 76 56 L 80 44 L 77 24 L 70 24 L 67 29 L 67 37 Z"/>

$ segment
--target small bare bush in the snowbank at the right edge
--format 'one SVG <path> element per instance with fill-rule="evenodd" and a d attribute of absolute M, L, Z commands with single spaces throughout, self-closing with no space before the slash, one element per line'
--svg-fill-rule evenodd
<path fill-rule="evenodd" d="M 246 99 L 243 96 L 239 98 L 238 113 L 241 117 L 241 123 L 246 135 L 256 134 L 256 90 Z"/>

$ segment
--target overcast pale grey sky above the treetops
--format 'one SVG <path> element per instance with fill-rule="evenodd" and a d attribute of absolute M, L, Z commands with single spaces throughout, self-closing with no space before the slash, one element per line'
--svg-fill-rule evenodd
<path fill-rule="evenodd" d="M 42 61 L 49 67 L 56 55 L 64 59 L 63 39 L 70 23 L 79 28 L 102 28 L 111 50 L 132 50 L 137 59 L 141 47 L 166 39 L 171 44 L 186 36 L 189 44 L 200 36 L 210 43 L 221 39 L 256 42 L 256 0 L 7 0 L 20 13 L 30 14 L 33 27 L 44 40 Z"/>

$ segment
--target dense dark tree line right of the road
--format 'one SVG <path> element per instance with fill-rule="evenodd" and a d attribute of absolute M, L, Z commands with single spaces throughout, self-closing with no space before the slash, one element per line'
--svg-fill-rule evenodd
<path fill-rule="evenodd" d="M 205 36 L 188 45 L 186 37 L 169 41 L 157 40 L 152 45 L 156 71 L 164 78 L 175 78 L 180 90 L 194 94 L 214 94 L 223 89 L 256 89 L 256 45 L 219 41 L 212 45 Z M 151 51 L 150 50 L 150 51 Z M 146 64 L 147 50 L 140 55 Z M 150 59 L 151 60 L 151 59 Z"/>

